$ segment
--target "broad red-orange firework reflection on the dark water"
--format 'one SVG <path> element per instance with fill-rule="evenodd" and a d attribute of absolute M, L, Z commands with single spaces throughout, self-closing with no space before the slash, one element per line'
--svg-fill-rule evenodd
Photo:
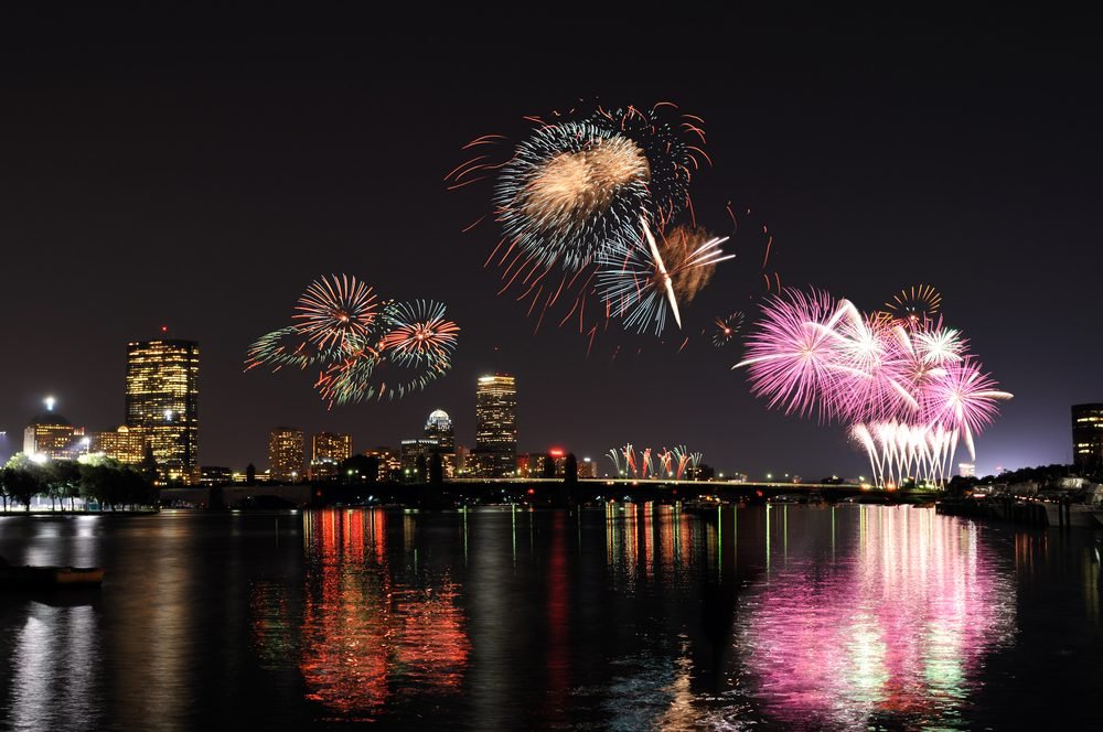
<path fill-rule="evenodd" d="M 392 567 L 383 510 L 325 510 L 306 517 L 303 540 L 311 557 L 300 626 L 299 669 L 307 697 L 342 719 L 372 719 L 394 693 L 458 689 L 470 653 L 457 586 L 448 572 L 417 571 L 416 520 L 400 517 L 403 550 L 415 574 Z M 399 561 L 404 560 L 403 552 Z M 258 646 L 289 645 L 291 625 L 259 605 Z M 275 616 L 275 622 L 274 622 Z M 286 632 L 285 632 L 286 628 Z M 278 637 L 278 639 L 268 640 Z"/>

